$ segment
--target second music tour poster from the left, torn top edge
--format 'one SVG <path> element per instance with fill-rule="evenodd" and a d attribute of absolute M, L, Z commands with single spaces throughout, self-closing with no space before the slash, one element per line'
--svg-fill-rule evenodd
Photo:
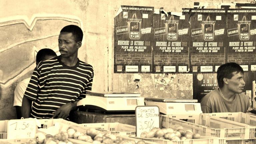
<path fill-rule="evenodd" d="M 186 73 L 189 66 L 189 16 L 154 13 L 153 73 Z"/>

